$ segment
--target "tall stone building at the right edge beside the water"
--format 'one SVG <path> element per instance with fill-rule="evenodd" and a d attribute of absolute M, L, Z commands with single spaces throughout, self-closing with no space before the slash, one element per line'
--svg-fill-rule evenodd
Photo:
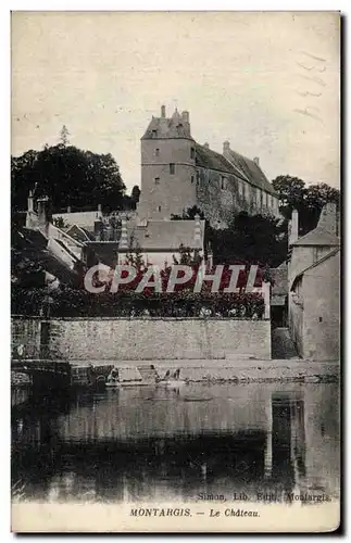
<path fill-rule="evenodd" d="M 298 231 L 293 214 L 291 233 Z M 335 204 L 322 211 L 317 227 L 290 240 L 289 329 L 305 359 L 339 358 L 340 239 Z"/>

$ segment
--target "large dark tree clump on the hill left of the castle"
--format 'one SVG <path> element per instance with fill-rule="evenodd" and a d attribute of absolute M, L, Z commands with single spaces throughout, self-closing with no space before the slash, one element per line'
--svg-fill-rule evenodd
<path fill-rule="evenodd" d="M 125 185 L 111 154 L 96 154 L 62 143 L 11 157 L 13 210 L 26 210 L 29 190 L 48 195 L 54 211 L 63 207 L 123 209 Z"/>

